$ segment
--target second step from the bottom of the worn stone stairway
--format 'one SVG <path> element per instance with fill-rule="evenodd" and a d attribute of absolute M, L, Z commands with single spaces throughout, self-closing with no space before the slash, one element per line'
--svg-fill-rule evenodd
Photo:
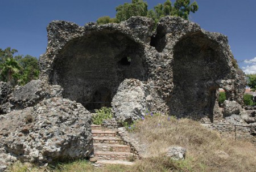
<path fill-rule="evenodd" d="M 105 152 L 105 151 L 94 151 L 94 156 L 98 160 L 122 160 L 129 161 L 133 159 L 133 153 L 130 152 Z"/>

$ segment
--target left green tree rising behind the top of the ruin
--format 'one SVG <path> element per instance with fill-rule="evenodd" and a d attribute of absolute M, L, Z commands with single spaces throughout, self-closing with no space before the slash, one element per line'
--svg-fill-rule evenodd
<path fill-rule="evenodd" d="M 117 21 L 125 21 L 132 16 L 147 16 L 147 2 L 143 0 L 132 0 L 131 3 L 124 3 L 115 8 Z"/>

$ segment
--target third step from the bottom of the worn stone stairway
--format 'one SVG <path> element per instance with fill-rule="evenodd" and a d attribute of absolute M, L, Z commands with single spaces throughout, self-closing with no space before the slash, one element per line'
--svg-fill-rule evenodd
<path fill-rule="evenodd" d="M 94 150 L 97 150 L 97 151 L 131 152 L 131 148 L 128 145 L 122 145 L 122 144 L 94 143 L 93 147 L 94 147 Z"/>

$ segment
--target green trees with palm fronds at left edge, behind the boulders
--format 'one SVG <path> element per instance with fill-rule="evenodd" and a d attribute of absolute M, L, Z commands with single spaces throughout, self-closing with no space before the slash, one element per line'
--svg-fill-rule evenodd
<path fill-rule="evenodd" d="M 31 55 L 15 55 L 18 50 L 10 47 L 0 49 L 0 81 L 12 86 L 24 85 L 33 79 L 38 79 L 38 59 Z"/>

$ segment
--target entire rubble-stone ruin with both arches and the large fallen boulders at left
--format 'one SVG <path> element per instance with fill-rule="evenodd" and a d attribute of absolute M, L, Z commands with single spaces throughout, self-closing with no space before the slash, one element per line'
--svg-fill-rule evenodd
<path fill-rule="evenodd" d="M 88 157 L 89 111 L 102 106 L 111 106 L 118 122 L 148 110 L 202 122 L 250 118 L 242 108 L 244 74 L 220 33 L 170 16 L 156 29 L 152 19 L 137 16 L 83 27 L 52 21 L 47 32 L 40 80 L 14 89 L 0 83 L 2 169 L 16 160 L 47 164 Z M 226 92 L 223 110 L 219 88 Z"/>

